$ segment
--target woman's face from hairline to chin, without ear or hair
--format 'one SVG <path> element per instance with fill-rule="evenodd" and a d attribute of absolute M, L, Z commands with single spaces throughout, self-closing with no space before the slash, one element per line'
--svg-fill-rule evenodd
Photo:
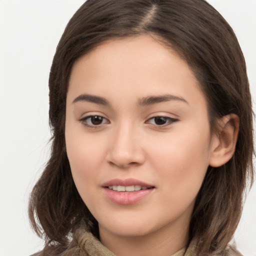
<path fill-rule="evenodd" d="M 65 139 L 75 185 L 100 233 L 187 230 L 212 143 L 205 97 L 174 51 L 140 35 L 78 59 Z"/>

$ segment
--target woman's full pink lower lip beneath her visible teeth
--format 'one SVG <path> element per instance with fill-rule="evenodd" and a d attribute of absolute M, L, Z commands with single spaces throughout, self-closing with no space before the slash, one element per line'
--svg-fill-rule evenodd
<path fill-rule="evenodd" d="M 103 188 L 106 196 L 108 199 L 114 203 L 117 204 L 133 204 L 141 199 L 144 199 L 146 196 L 148 196 L 152 191 L 153 188 L 149 189 L 142 189 L 138 191 L 132 191 L 132 192 L 124 192 L 124 191 L 115 191 L 112 189 L 109 189 L 107 187 Z"/>

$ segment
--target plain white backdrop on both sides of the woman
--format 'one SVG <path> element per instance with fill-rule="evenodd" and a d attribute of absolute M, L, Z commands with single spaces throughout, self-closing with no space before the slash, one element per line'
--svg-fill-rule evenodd
<path fill-rule="evenodd" d="M 82 0 L 0 0 L 0 256 L 42 247 L 27 218 L 28 194 L 49 151 L 48 88 L 60 35 Z M 209 0 L 233 27 L 256 99 L 256 0 Z M 254 108 L 255 109 L 255 108 Z M 256 256 L 256 185 L 235 233 L 237 247 Z"/>

